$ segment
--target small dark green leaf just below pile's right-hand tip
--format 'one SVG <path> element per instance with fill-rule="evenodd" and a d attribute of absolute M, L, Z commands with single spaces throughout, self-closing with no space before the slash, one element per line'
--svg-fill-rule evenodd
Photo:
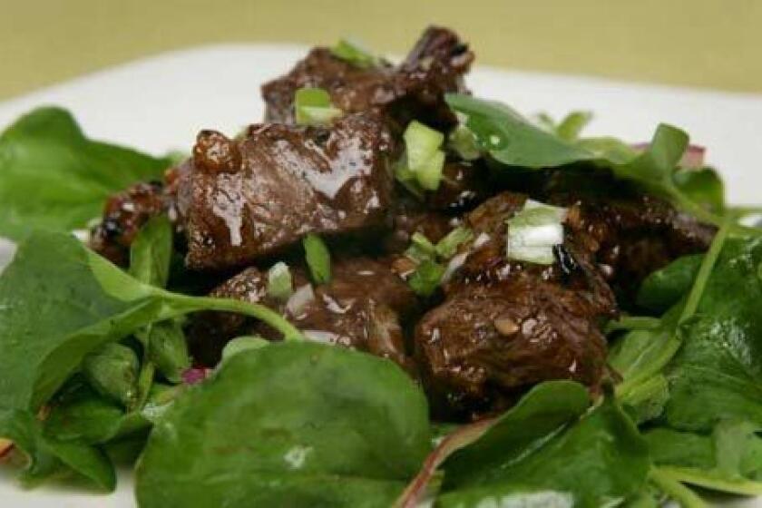
<path fill-rule="evenodd" d="M 683 256 L 651 273 L 640 284 L 638 305 L 654 312 L 664 312 L 674 306 L 693 286 L 703 259 L 703 254 Z"/>

